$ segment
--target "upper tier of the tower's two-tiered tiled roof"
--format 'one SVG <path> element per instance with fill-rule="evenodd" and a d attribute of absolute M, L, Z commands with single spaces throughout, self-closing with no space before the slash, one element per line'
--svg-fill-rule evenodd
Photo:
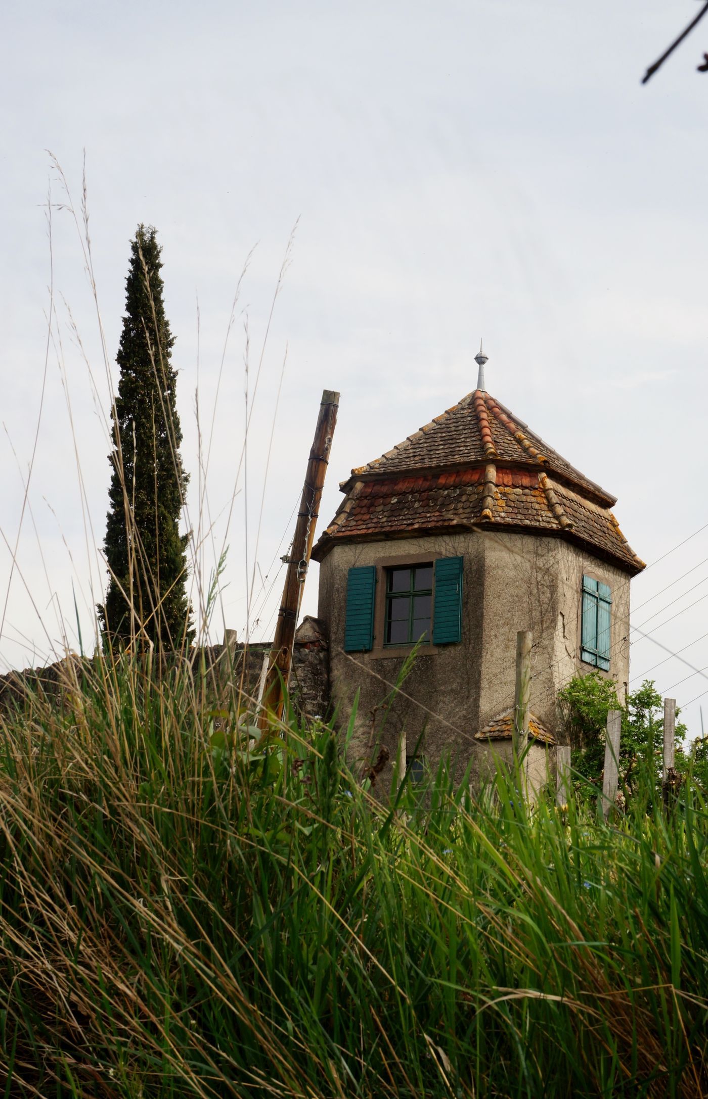
<path fill-rule="evenodd" d="M 352 476 L 388 475 L 495 459 L 542 465 L 574 485 L 580 485 L 610 507 L 617 503 L 613 496 L 575 469 L 522 420 L 479 389 L 467 393 L 380 458 L 352 469 Z"/>

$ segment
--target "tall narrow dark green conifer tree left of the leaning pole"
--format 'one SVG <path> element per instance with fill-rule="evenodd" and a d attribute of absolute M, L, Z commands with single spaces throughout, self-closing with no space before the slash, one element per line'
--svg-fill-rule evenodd
<path fill-rule="evenodd" d="M 179 517 L 188 477 L 175 402 L 175 342 L 163 303 L 161 247 L 139 225 L 131 242 L 125 317 L 117 355 L 118 397 L 111 413 L 113 451 L 106 558 L 110 581 L 99 620 L 107 644 L 134 642 L 177 648 L 191 640 L 187 600 L 187 536 Z M 187 633 L 185 633 L 187 631 Z"/>

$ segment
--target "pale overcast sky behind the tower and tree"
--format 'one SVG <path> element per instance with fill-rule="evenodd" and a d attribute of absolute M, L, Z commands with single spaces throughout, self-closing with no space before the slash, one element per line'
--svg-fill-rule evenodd
<path fill-rule="evenodd" d="M 632 686 L 648 673 L 698 735 L 708 21 L 640 82 L 695 14 L 5 0 L 1 667 L 93 644 L 144 222 L 163 246 L 202 591 L 225 552 L 212 641 L 272 636 L 322 390 L 341 393 L 323 526 L 352 466 L 474 388 L 483 336 L 488 390 L 618 497 L 650 564 L 632 581 Z"/>

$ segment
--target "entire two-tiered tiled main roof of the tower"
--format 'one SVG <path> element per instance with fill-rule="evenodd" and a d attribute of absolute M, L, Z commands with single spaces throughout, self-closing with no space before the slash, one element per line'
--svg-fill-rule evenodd
<path fill-rule="evenodd" d="M 487 393 L 465 397 L 407 443 L 353 470 L 313 557 L 321 560 L 338 541 L 482 526 L 560 535 L 632 575 L 641 571 L 643 562 L 609 510 L 615 498 L 520 423 Z"/>

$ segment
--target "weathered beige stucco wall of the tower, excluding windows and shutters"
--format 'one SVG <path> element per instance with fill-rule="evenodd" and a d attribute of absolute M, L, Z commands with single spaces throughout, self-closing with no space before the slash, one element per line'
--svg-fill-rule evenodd
<path fill-rule="evenodd" d="M 410 699 L 400 693 L 390 702 L 403 656 L 399 650 L 384 650 L 381 637 L 375 637 L 369 653 L 344 653 L 346 577 L 353 566 L 389 566 L 411 555 L 464 557 L 462 642 L 427 646 L 402 686 Z M 432 764 L 450 752 L 457 757 L 458 774 L 472 758 L 473 777 L 482 778 L 487 748 L 473 737 L 513 703 L 519 630 L 533 634 L 531 709 L 562 739 L 556 692 L 574 675 L 593 670 L 580 662 L 584 574 L 612 589 L 607 675 L 617 678 L 623 691 L 629 667 L 629 577 L 582 548 L 557 537 L 482 530 L 335 545 L 320 565 L 319 618 L 329 632 L 332 704 L 341 729 L 350 723 L 359 689 L 350 758 L 365 766 L 384 746 L 389 754 L 380 777 L 385 786 L 401 734 L 409 754 L 422 735 L 418 751 Z M 495 750 L 500 752 L 498 744 Z M 540 779 L 549 754 L 540 747 L 534 758 L 536 754 L 534 770 Z"/>

